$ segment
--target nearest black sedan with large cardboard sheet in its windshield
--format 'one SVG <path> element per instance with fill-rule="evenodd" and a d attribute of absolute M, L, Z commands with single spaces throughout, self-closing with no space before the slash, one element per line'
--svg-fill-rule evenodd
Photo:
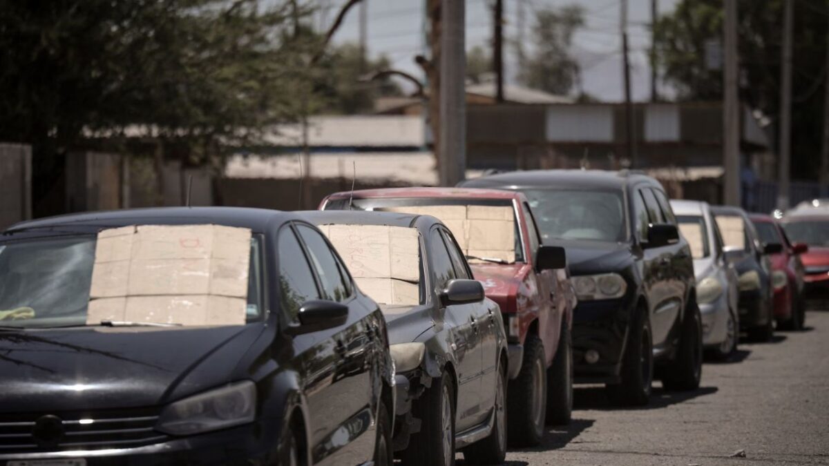
<path fill-rule="evenodd" d="M 2 464 L 390 463 L 385 321 L 294 214 L 12 226 L 0 346 Z"/>

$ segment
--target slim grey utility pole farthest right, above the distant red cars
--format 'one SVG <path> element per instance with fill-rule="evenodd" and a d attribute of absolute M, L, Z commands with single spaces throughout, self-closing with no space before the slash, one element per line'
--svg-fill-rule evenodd
<path fill-rule="evenodd" d="M 778 209 L 788 209 L 789 161 L 792 149 L 792 28 L 794 27 L 793 0 L 785 0 L 783 13 L 783 67 L 780 71 L 780 182 Z"/>

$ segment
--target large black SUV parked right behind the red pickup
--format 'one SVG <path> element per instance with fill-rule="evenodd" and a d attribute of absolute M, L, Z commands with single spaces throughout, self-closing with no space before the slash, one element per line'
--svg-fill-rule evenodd
<path fill-rule="evenodd" d="M 657 373 L 668 390 L 700 384 L 702 345 L 691 250 L 662 186 L 635 172 L 508 172 L 463 182 L 523 192 L 546 244 L 564 246 L 579 304 L 576 382 L 605 383 L 644 405 Z"/>

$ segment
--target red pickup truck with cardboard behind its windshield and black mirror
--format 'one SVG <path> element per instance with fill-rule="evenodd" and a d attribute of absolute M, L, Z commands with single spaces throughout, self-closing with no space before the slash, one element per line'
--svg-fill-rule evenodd
<path fill-rule="evenodd" d="M 539 444 L 545 420 L 570 421 L 575 293 L 564 250 L 541 244 L 521 192 L 454 187 L 338 192 L 323 199 L 320 209 L 400 211 L 443 221 L 487 298 L 501 307 L 509 343 L 510 443 Z"/>

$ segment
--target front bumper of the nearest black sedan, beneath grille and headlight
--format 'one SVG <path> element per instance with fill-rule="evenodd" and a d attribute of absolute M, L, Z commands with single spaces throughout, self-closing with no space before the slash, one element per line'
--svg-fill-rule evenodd
<path fill-rule="evenodd" d="M 281 420 L 259 420 L 253 424 L 201 435 L 170 439 L 133 448 L 90 449 L 32 453 L 2 453 L 0 464 L 50 459 L 85 459 L 87 466 L 178 464 L 256 465 L 273 464 L 279 458 L 277 439 Z"/>

